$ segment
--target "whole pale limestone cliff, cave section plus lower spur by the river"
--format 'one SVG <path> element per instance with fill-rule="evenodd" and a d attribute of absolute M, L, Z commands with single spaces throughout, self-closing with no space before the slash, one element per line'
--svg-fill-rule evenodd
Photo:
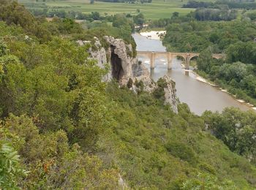
<path fill-rule="evenodd" d="M 127 45 L 123 39 L 115 39 L 114 37 L 104 37 L 108 43 L 108 48 L 102 47 L 97 37 L 94 37 L 94 48 L 90 47 L 89 54 L 91 58 L 97 61 L 99 67 L 110 64 L 110 72 L 105 76 L 105 81 L 116 79 L 120 86 L 126 86 L 129 79 L 132 80 L 132 91 L 148 91 L 153 92 L 157 88 L 157 84 L 151 80 L 146 66 L 138 61 L 138 58 L 132 57 L 132 45 Z M 91 43 L 89 41 L 78 41 L 80 45 Z M 175 83 L 170 77 L 165 76 L 167 87 L 165 88 L 165 103 L 170 104 L 173 112 L 178 113 L 178 100 L 176 96 Z M 137 84 L 135 84 L 135 81 Z M 141 83 L 138 85 L 138 81 Z"/>

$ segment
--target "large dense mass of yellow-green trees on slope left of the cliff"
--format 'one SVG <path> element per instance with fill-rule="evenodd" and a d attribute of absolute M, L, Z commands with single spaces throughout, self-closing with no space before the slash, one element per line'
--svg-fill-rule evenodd
<path fill-rule="evenodd" d="M 101 82 L 106 70 L 87 60 L 88 47 L 61 38 L 47 45 L 26 39 L 6 43 L 12 54 L 0 57 L 1 117 L 37 116 L 41 131 L 64 129 L 70 142 L 93 148 L 100 128 L 108 126 Z"/>

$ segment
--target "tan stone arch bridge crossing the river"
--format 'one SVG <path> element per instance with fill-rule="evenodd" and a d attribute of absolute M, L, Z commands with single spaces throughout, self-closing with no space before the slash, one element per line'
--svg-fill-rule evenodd
<path fill-rule="evenodd" d="M 185 60 L 185 69 L 189 69 L 190 60 L 194 57 L 198 57 L 200 53 L 175 53 L 175 52 L 156 52 L 156 51 L 137 51 L 137 56 L 150 59 L 150 68 L 154 69 L 154 59 L 159 57 L 165 57 L 168 63 L 168 69 L 172 69 L 172 60 L 177 56 L 181 56 Z M 217 53 L 212 54 L 213 58 L 224 58 L 225 54 Z"/>

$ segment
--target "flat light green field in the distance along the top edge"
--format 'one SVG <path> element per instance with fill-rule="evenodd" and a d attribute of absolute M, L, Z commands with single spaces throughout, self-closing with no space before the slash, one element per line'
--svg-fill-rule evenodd
<path fill-rule="evenodd" d="M 31 8 L 31 2 L 36 3 L 34 0 L 19 0 L 26 7 Z M 108 3 L 95 1 L 94 4 L 89 4 L 88 0 L 67 0 L 67 1 L 47 1 L 45 4 L 49 8 L 58 7 L 59 9 L 77 10 L 83 13 L 99 12 L 102 15 L 108 13 L 113 15 L 116 13 L 130 13 L 131 15 L 137 14 L 137 9 L 146 16 L 147 19 L 158 18 L 170 18 L 173 12 L 179 12 L 181 15 L 185 15 L 194 9 L 183 9 L 182 4 L 187 1 L 175 1 L 175 0 L 153 0 L 150 4 L 125 4 L 125 3 Z M 42 1 L 39 1 L 42 4 Z"/>

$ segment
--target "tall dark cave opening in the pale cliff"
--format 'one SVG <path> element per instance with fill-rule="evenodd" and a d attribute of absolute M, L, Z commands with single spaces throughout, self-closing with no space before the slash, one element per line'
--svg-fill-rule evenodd
<path fill-rule="evenodd" d="M 114 52 L 116 46 L 111 45 L 110 48 L 111 48 L 110 62 L 112 67 L 112 77 L 117 81 L 119 81 L 121 77 L 124 75 L 124 69 L 121 66 L 121 58 L 119 58 L 118 55 L 116 55 L 116 53 Z"/>

